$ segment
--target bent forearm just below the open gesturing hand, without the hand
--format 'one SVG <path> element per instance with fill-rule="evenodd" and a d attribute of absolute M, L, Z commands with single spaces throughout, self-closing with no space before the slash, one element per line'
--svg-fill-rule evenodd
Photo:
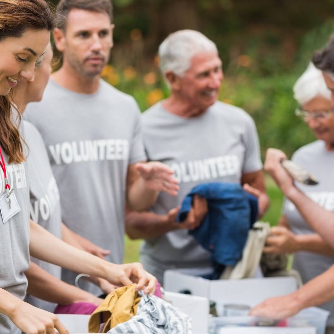
<path fill-rule="evenodd" d="M 127 204 L 132 210 L 148 210 L 157 199 L 158 193 L 156 190 L 147 189 L 143 178 L 138 177 L 128 187 Z"/>

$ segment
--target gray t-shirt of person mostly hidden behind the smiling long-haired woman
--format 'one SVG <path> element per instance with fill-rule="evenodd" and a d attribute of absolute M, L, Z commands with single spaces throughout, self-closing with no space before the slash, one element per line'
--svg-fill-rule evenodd
<path fill-rule="evenodd" d="M 43 139 L 29 122 L 24 123 L 24 137 L 29 147 L 27 164 L 30 186 L 30 219 L 57 238 L 61 238 L 61 211 L 59 190 L 53 177 Z M 31 257 L 31 261 L 61 279 L 61 268 Z M 56 304 L 27 295 L 25 301 L 43 310 L 53 312 Z"/>

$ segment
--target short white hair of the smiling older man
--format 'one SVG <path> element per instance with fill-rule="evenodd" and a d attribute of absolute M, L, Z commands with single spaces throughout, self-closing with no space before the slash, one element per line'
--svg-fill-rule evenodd
<path fill-rule="evenodd" d="M 159 46 L 160 69 L 182 76 L 191 66 L 194 55 L 203 52 L 218 54 L 216 44 L 196 30 L 179 30 L 170 34 Z"/>

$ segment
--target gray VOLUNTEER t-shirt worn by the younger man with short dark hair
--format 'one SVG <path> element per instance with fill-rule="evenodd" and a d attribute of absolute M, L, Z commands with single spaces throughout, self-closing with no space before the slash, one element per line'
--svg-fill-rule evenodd
<path fill-rule="evenodd" d="M 146 160 L 135 100 L 103 80 L 96 93 L 79 94 L 50 79 L 42 101 L 29 104 L 24 115 L 47 148 L 63 222 L 110 249 L 107 260 L 122 263 L 127 169 Z M 76 275 L 63 270 L 62 279 L 74 284 Z"/>

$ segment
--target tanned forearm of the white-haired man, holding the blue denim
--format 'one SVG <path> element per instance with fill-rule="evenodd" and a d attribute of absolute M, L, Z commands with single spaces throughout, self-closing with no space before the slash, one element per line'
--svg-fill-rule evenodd
<path fill-rule="evenodd" d="M 177 225 L 169 221 L 168 215 L 148 211 L 126 212 L 126 231 L 131 239 L 155 238 L 175 229 Z"/>

